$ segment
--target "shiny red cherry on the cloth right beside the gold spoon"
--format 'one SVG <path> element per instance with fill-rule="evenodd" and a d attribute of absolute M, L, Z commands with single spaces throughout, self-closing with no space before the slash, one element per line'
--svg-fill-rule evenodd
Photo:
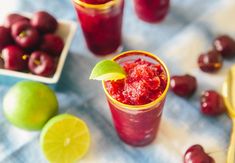
<path fill-rule="evenodd" d="M 222 96 L 213 90 L 207 90 L 201 96 L 201 112 L 205 115 L 216 116 L 225 112 Z"/>

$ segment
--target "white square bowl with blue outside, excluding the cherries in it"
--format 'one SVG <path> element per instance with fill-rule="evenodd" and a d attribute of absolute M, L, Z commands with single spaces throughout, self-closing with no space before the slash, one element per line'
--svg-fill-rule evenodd
<path fill-rule="evenodd" d="M 22 14 L 22 15 L 25 15 L 25 14 Z M 66 57 L 68 55 L 70 45 L 72 43 L 72 39 L 75 35 L 76 28 L 77 28 L 77 24 L 73 21 L 58 20 L 58 23 L 59 23 L 59 26 L 55 34 L 59 35 L 63 39 L 64 48 L 59 57 L 57 68 L 56 68 L 54 75 L 51 77 L 43 77 L 43 76 L 38 76 L 38 75 L 31 74 L 31 73 L 26 73 L 26 72 L 0 69 L 0 83 L 12 84 L 19 80 L 34 80 L 34 81 L 42 82 L 45 84 L 54 85 L 58 82 L 61 76 L 62 69 L 64 67 Z"/>

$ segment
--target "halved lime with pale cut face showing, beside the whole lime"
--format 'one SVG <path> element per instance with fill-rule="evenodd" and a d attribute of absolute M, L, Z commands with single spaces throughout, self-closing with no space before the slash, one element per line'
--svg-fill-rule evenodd
<path fill-rule="evenodd" d="M 73 163 L 87 153 L 90 133 L 86 123 L 78 117 L 61 114 L 44 126 L 40 144 L 48 161 Z"/>

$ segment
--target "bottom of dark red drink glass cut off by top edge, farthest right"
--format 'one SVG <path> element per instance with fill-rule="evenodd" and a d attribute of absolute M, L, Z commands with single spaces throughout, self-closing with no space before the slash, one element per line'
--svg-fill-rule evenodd
<path fill-rule="evenodd" d="M 169 0 L 134 0 L 137 16 L 149 23 L 162 21 L 169 10 Z"/>

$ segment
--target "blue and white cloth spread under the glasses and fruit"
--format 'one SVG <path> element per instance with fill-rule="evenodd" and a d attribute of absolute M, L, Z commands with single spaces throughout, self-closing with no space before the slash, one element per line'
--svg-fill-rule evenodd
<path fill-rule="evenodd" d="M 8 12 L 47 10 L 57 18 L 76 21 L 69 0 L 8 0 L 0 6 L 0 18 Z M 212 48 L 219 34 L 235 38 L 234 0 L 172 0 L 171 10 L 161 24 L 141 22 L 134 14 L 132 2 L 126 0 L 123 39 L 124 49 L 153 52 L 161 57 L 171 74 L 193 74 L 198 79 L 196 94 L 183 99 L 168 94 L 157 139 L 146 147 L 134 148 L 122 143 L 113 128 L 101 83 L 89 81 L 94 64 L 100 60 L 85 47 L 80 28 L 70 49 L 62 77 L 57 85 L 60 112 L 81 117 L 88 124 L 92 143 L 82 163 L 181 163 L 185 150 L 201 144 L 217 163 L 226 160 L 231 121 L 226 115 L 206 117 L 199 112 L 200 93 L 220 90 L 228 68 L 206 74 L 197 67 L 200 52 Z M 9 86 L 0 85 L 2 97 Z M 39 132 L 27 132 L 10 125 L 0 109 L 0 162 L 45 163 L 39 145 Z"/>

